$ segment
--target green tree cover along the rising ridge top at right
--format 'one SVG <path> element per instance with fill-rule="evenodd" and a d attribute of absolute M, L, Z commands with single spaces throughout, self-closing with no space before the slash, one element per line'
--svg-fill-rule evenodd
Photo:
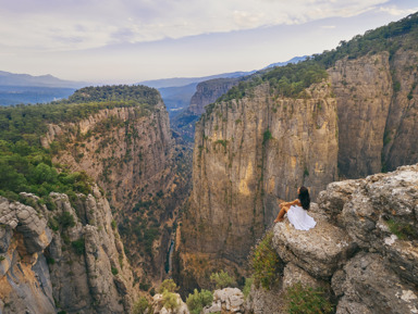
<path fill-rule="evenodd" d="M 416 38 L 418 38 L 418 13 L 377 29 L 368 30 L 362 36 L 357 35 L 349 41 L 343 40 L 336 49 L 315 54 L 306 61 L 260 71 L 243 79 L 237 86 L 232 87 L 217 102 L 251 97 L 253 89 L 265 83 L 269 83 L 272 91 L 278 96 L 305 98 L 304 90 L 311 84 L 320 83 L 327 78 L 325 68 L 333 66 L 337 60 L 344 58 L 356 59 L 380 51 L 389 51 L 392 56 L 401 47 L 417 49 Z M 394 88 L 396 87 L 394 86 Z M 206 112 L 210 114 L 214 105 L 216 103 L 208 105 Z"/>

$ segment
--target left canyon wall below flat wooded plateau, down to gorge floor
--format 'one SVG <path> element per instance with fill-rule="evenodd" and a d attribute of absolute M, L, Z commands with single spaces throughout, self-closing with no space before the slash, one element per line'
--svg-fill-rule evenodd
<path fill-rule="evenodd" d="M 74 123 L 50 124 L 42 145 L 59 147 L 54 162 L 85 171 L 104 190 L 136 276 L 145 285 L 160 280 L 174 218 L 188 196 L 189 169 L 159 95 L 153 105 L 102 109 Z"/>

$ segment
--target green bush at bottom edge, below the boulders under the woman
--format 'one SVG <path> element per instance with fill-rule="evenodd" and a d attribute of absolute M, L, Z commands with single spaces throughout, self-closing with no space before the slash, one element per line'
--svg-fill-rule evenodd
<path fill-rule="evenodd" d="M 332 313 L 333 305 L 324 297 L 321 289 L 303 286 L 300 282 L 287 288 L 284 300 L 290 314 Z"/>

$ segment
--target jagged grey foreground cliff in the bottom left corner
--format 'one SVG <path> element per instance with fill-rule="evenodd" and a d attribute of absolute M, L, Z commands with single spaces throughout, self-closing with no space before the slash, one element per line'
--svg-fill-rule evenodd
<path fill-rule="evenodd" d="M 99 190 L 53 210 L 0 199 L 1 313 L 127 313 L 133 274 Z"/>

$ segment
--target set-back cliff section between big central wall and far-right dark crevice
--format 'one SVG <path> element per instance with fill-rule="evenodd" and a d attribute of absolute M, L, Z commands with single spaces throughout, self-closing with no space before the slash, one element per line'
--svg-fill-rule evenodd
<path fill-rule="evenodd" d="M 339 169 L 345 177 L 381 172 L 390 71 L 389 53 L 340 60 L 329 70 L 339 113 Z"/>

